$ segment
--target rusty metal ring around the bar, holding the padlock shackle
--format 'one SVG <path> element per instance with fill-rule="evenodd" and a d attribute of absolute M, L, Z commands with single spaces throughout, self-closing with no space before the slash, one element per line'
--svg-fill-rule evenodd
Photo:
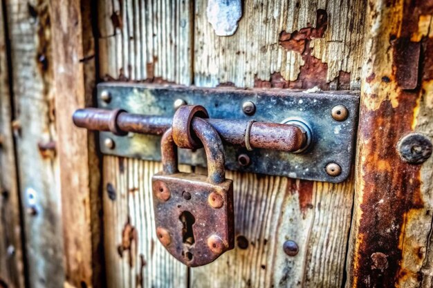
<path fill-rule="evenodd" d="M 208 118 L 208 111 L 200 105 L 183 105 L 174 113 L 173 140 L 179 148 L 200 148 L 199 139 L 192 133 L 191 121 L 194 117 Z"/>

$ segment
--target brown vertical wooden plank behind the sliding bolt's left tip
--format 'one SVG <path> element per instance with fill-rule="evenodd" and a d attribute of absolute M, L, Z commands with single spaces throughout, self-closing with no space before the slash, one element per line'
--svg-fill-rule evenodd
<path fill-rule="evenodd" d="M 95 135 L 73 125 L 77 108 L 91 106 L 95 88 L 95 47 L 91 3 L 52 1 L 53 70 L 65 286 L 103 287 L 100 164 Z"/>

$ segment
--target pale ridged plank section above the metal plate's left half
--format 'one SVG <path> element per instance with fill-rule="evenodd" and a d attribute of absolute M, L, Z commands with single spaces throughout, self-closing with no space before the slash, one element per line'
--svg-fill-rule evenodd
<path fill-rule="evenodd" d="M 99 1 L 100 75 L 192 83 L 192 1 Z"/>

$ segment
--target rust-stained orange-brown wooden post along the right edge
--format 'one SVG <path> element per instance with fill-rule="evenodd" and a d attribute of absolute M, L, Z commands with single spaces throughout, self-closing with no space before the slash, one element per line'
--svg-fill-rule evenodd
<path fill-rule="evenodd" d="M 408 164 L 396 146 L 433 137 L 433 5 L 367 7 L 347 287 L 432 287 L 433 158 Z"/>

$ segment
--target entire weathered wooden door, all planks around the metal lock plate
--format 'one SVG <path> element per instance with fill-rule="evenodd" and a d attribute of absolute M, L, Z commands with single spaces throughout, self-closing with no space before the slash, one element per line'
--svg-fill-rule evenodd
<path fill-rule="evenodd" d="M 433 137 L 432 1 L 245 0 L 229 37 L 207 5 L 2 1 L 0 185 L 12 198 L 0 207 L 15 214 L 0 233 L 22 231 L 0 237 L 0 287 L 431 287 L 433 160 L 407 164 L 396 146 Z M 161 164 L 100 155 L 98 135 L 71 122 L 98 81 L 360 90 L 356 165 L 339 184 L 228 171 L 236 247 L 189 269 L 154 233 Z"/>

